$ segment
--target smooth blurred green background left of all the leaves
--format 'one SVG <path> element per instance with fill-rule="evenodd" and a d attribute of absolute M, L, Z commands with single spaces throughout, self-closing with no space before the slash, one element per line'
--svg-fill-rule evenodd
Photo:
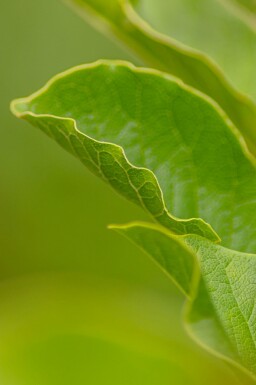
<path fill-rule="evenodd" d="M 235 385 L 183 298 L 109 223 L 145 219 L 9 112 L 51 76 L 128 53 L 60 0 L 1 0 L 0 384 Z"/>

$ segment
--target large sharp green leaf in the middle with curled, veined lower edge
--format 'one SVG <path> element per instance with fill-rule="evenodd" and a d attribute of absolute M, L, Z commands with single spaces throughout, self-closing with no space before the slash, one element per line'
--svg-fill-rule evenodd
<path fill-rule="evenodd" d="M 12 109 L 174 233 L 217 240 L 206 221 L 225 246 L 255 249 L 253 159 L 218 106 L 170 76 L 97 62 Z"/>

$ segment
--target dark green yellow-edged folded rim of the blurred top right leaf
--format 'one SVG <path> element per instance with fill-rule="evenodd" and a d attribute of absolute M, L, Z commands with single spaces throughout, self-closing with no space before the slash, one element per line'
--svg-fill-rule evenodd
<path fill-rule="evenodd" d="M 177 76 L 213 98 L 241 131 L 249 149 L 256 155 L 256 105 L 237 92 L 208 57 L 157 33 L 136 14 L 127 0 L 66 2 L 75 5 L 89 22 L 104 33 L 117 36 L 146 64 Z"/>

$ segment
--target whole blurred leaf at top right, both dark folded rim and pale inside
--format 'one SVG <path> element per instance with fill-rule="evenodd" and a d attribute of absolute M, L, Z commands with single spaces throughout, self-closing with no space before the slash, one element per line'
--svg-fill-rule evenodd
<path fill-rule="evenodd" d="M 242 132 L 249 149 L 256 155 L 256 104 L 248 96 L 238 92 L 227 80 L 236 79 L 238 72 L 241 71 L 240 85 L 247 82 L 250 84 L 251 90 L 255 90 L 252 80 L 254 76 L 249 75 L 247 81 L 243 79 L 244 76 L 248 76 L 248 73 L 253 74 L 256 62 L 256 34 L 247 25 L 247 20 L 240 19 L 237 12 L 230 12 L 229 8 L 218 5 L 218 0 L 182 0 L 177 3 L 169 2 L 169 6 L 164 1 L 156 3 L 149 0 L 138 0 L 136 8 L 129 0 L 111 0 L 110 4 L 107 4 L 105 0 L 66 1 L 75 6 L 75 9 L 93 25 L 121 40 L 147 66 L 170 73 L 214 99 Z M 152 5 L 153 9 L 150 12 Z M 180 20 L 180 22 L 178 21 L 180 29 L 176 28 L 177 31 L 174 34 L 174 36 L 179 36 L 179 40 L 174 39 L 172 34 L 160 34 L 136 12 L 138 8 L 142 15 L 145 14 L 146 18 L 153 19 L 154 24 L 160 25 L 162 24 L 161 12 L 159 18 L 159 12 L 154 12 L 154 10 L 155 7 L 161 9 L 161 6 L 162 13 L 165 15 L 172 13 L 175 21 Z M 144 8 L 149 10 L 145 12 Z M 154 17 L 148 17 L 148 14 L 150 16 L 154 14 Z M 188 20 L 184 21 L 185 16 Z M 182 28 L 183 21 L 186 26 Z M 171 22 L 172 20 L 170 20 Z M 173 23 L 173 28 L 169 27 L 168 21 L 163 24 L 168 26 L 165 28 L 166 30 L 173 32 L 176 22 Z M 198 32 L 199 28 L 200 32 Z M 160 28 L 160 30 L 162 29 L 163 27 Z M 239 46 L 245 46 L 245 52 L 241 53 L 241 55 L 244 54 L 245 59 L 240 60 L 241 63 L 238 63 L 234 56 L 231 61 L 225 60 L 224 62 L 223 59 L 226 57 L 227 45 L 232 50 L 234 31 L 238 33 Z M 224 44 L 221 45 L 218 43 L 220 36 L 224 41 Z M 234 76 L 229 75 L 231 71 L 226 71 L 224 75 L 211 57 L 208 57 L 204 51 L 196 49 L 204 48 L 206 40 L 211 47 L 206 52 L 212 53 L 211 56 L 223 64 L 222 70 L 237 68 Z M 184 45 L 184 42 L 192 45 Z M 237 84 L 237 81 L 234 83 Z"/>

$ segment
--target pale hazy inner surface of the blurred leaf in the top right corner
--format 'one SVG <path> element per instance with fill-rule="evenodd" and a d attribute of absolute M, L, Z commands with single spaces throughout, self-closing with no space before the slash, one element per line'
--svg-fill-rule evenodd
<path fill-rule="evenodd" d="M 158 31 L 209 55 L 235 87 L 256 97 L 256 29 L 232 1 L 140 0 L 136 10 Z"/>

